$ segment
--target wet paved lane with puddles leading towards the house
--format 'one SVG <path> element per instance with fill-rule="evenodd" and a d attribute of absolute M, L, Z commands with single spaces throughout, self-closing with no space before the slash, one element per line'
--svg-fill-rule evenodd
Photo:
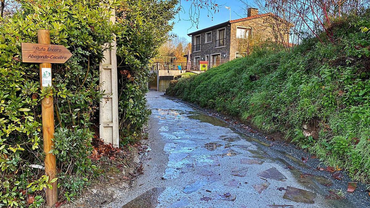
<path fill-rule="evenodd" d="M 327 197 L 331 180 L 292 168 L 269 144 L 162 94 L 147 94 L 144 174 L 105 207 L 354 207 Z"/>

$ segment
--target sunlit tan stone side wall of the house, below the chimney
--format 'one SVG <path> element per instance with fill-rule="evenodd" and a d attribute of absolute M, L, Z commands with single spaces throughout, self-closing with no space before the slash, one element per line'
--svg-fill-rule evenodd
<path fill-rule="evenodd" d="M 279 33 L 273 32 L 272 26 L 274 25 L 276 25 L 275 20 L 273 20 L 270 16 L 256 18 L 252 20 L 240 21 L 237 23 L 232 23 L 231 24 L 230 60 L 233 60 L 235 58 L 236 52 L 238 52 L 238 46 L 237 46 L 238 41 L 236 38 L 236 28 L 238 26 L 252 28 L 252 35 L 259 34 L 262 40 L 267 40 L 271 38 L 271 40 L 273 41 L 279 40 L 279 42 L 282 42 L 282 39 L 284 39 L 283 42 L 287 43 L 287 40 L 289 39 L 289 34 L 285 34 L 285 37 L 281 38 L 279 36 Z"/>

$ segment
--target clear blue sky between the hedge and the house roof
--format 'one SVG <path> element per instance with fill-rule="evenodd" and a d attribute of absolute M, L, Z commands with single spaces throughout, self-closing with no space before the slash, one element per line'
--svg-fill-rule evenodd
<path fill-rule="evenodd" d="M 196 25 L 192 26 L 192 22 L 189 19 L 189 10 L 191 9 L 191 0 L 181 0 L 181 6 L 182 11 L 179 12 L 179 14 L 176 15 L 175 19 L 172 20 L 175 25 L 172 30 L 172 33 L 177 34 L 179 37 L 185 37 L 189 42 L 191 41 L 191 37 L 189 37 L 187 34 L 191 33 L 196 30 L 200 30 L 206 27 L 210 27 L 219 23 L 223 23 L 225 21 L 228 21 L 230 19 L 230 13 L 229 10 L 225 9 L 225 6 L 231 7 L 231 19 L 239 19 L 242 17 L 246 17 L 244 14 L 245 11 L 242 9 L 245 7 L 245 4 L 243 4 L 239 0 L 233 0 L 233 1 L 227 1 L 227 0 L 215 0 L 218 5 L 223 5 L 219 7 L 219 12 L 213 13 L 213 21 L 211 19 L 211 14 L 209 17 L 208 10 L 201 9 L 200 10 L 200 16 L 199 16 L 199 24 L 198 28 L 196 28 Z M 253 5 L 253 0 L 244 0 L 244 2 L 248 3 L 249 5 Z M 194 7 L 193 7 L 194 9 Z"/>

